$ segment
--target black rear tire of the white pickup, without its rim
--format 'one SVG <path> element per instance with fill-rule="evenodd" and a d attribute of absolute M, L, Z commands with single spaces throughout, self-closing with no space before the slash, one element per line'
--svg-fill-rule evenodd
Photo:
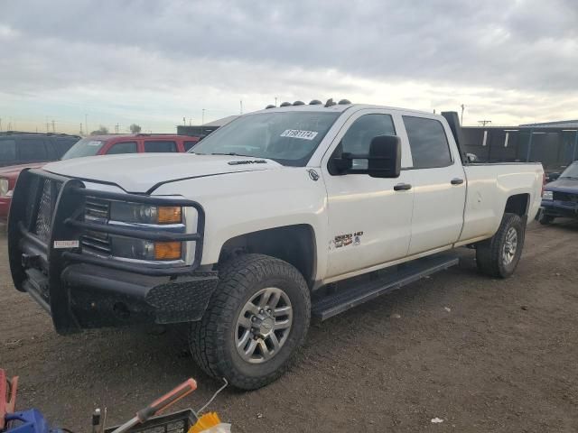
<path fill-rule="evenodd" d="M 511 262 L 504 257 L 506 238 L 510 229 L 517 235 L 517 247 Z M 498 232 L 491 238 L 476 244 L 476 263 L 478 270 L 490 277 L 508 278 L 516 271 L 520 261 L 526 235 L 525 221 L 516 214 L 504 214 Z"/>

